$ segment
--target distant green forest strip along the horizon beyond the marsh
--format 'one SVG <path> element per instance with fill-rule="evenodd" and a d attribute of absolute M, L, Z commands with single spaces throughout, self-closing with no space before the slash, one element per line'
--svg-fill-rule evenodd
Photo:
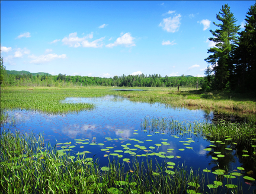
<path fill-rule="evenodd" d="M 161 75 L 122 75 L 113 78 L 71 76 L 66 74 L 33 75 L 28 71 L 16 71 L 10 74 L 6 71 L 1 86 L 47 86 L 47 87 L 81 87 L 81 86 L 126 86 L 126 87 L 190 87 L 201 88 L 203 77 L 193 77 L 191 75 L 182 75 L 180 77 L 161 77 Z M 26 73 L 24 73 L 26 72 Z M 28 73 L 27 73 L 28 72 Z"/>

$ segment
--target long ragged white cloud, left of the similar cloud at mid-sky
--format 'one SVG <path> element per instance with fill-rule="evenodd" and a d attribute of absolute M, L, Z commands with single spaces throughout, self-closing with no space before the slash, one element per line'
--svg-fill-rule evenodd
<path fill-rule="evenodd" d="M 100 42 L 104 39 L 100 38 L 98 40 L 89 42 L 87 39 L 91 39 L 93 38 L 93 32 L 91 32 L 91 34 L 86 35 L 85 37 L 79 38 L 77 37 L 77 33 L 73 32 L 71 34 L 69 34 L 69 37 L 65 37 L 62 39 L 63 44 L 65 45 L 69 45 L 69 47 L 94 47 L 94 48 L 98 48 L 98 47 L 102 47 L 103 44 L 100 44 Z"/>

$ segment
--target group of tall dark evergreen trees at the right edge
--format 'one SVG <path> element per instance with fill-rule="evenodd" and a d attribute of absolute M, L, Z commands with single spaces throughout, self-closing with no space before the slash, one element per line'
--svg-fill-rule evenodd
<path fill-rule="evenodd" d="M 203 90 L 256 91 L 256 4 L 251 5 L 241 32 L 228 4 L 216 15 L 220 24 L 210 29 L 215 47 L 208 50 Z"/>

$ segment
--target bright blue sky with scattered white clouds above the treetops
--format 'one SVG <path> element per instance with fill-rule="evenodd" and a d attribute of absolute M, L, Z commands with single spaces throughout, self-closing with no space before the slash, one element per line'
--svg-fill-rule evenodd
<path fill-rule="evenodd" d="M 1 1 L 1 57 L 31 73 L 202 77 L 225 4 L 244 30 L 255 1 Z"/>

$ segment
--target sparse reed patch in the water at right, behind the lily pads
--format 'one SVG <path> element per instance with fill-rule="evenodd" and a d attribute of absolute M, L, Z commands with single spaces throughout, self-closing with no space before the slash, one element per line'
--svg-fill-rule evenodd
<path fill-rule="evenodd" d="M 256 119 L 249 118 L 241 123 L 220 121 L 219 123 L 180 122 L 161 117 L 145 117 L 140 124 L 142 130 L 188 136 L 211 137 L 212 140 L 232 138 L 236 143 L 251 142 L 256 138 Z"/>

